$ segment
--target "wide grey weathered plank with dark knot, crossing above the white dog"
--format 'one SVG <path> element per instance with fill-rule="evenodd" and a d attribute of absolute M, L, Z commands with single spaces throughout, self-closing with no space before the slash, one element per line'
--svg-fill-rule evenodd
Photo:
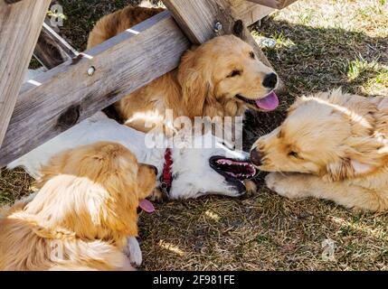
<path fill-rule="evenodd" d="M 0 149 L 0 167 L 80 120 L 174 70 L 190 47 L 166 11 L 85 51 L 22 89 Z M 92 76 L 87 71 L 95 68 Z M 90 73 L 91 74 L 91 73 Z"/>

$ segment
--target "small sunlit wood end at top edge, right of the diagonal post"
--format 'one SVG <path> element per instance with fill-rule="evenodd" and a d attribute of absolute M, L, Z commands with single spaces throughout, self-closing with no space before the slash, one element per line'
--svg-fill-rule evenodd
<path fill-rule="evenodd" d="M 274 8 L 255 4 L 246 0 L 228 0 L 234 19 L 241 19 L 249 26 L 275 11 Z"/>

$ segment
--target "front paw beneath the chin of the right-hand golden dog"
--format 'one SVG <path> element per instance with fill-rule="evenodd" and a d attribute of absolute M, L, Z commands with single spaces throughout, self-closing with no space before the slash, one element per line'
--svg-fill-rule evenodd
<path fill-rule="evenodd" d="M 265 183 L 272 191 L 276 191 L 280 196 L 289 199 L 297 199 L 304 197 L 304 193 L 298 190 L 298 186 L 294 183 L 292 177 L 283 175 L 279 172 L 270 172 L 265 177 Z"/>

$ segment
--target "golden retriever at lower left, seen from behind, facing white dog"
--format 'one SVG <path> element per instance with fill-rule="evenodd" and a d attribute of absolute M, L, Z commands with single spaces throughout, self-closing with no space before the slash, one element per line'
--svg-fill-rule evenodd
<path fill-rule="evenodd" d="M 155 188 L 153 167 L 99 142 L 52 157 L 37 185 L 0 219 L 0 270 L 133 269 L 123 250 Z"/>

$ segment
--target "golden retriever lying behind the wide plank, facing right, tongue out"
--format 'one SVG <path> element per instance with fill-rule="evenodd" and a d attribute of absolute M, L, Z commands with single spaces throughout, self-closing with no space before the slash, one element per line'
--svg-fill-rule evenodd
<path fill-rule="evenodd" d="M 88 48 L 161 11 L 128 6 L 104 16 L 90 33 Z M 219 36 L 186 51 L 176 70 L 122 98 L 116 110 L 126 125 L 147 132 L 155 127 L 146 125 L 149 122 L 166 124 L 166 109 L 174 117 L 192 119 L 242 116 L 249 107 L 275 109 L 279 105 L 273 92 L 277 85 L 277 75 L 249 44 L 233 35 Z"/>

